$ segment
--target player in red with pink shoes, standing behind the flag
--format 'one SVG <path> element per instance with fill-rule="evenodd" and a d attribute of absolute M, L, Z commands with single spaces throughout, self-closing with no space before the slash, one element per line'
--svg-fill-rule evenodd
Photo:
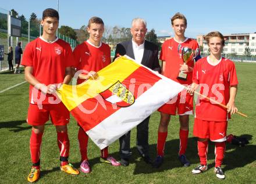
<path fill-rule="evenodd" d="M 97 71 L 108 66 L 111 63 L 111 53 L 108 44 L 101 42 L 102 34 L 104 33 L 104 22 L 99 17 L 91 17 L 88 22 L 87 31 L 90 37 L 87 41 L 77 45 L 73 51 L 76 62 L 76 70 L 83 70 L 79 74 L 77 84 L 88 80 L 90 77 L 97 78 Z M 90 114 L 88 114 L 90 116 Z M 84 173 L 91 171 L 87 157 L 88 135 L 83 128 L 79 128 L 78 140 L 81 153 L 80 169 Z M 115 158 L 109 156 L 108 147 L 101 150 L 101 161 L 119 166 L 120 163 Z"/>

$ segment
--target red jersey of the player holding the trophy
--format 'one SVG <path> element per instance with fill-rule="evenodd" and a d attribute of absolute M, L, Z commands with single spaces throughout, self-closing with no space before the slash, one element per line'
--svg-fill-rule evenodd
<path fill-rule="evenodd" d="M 180 64 L 183 64 L 182 56 L 178 53 L 178 46 L 187 46 L 191 49 L 199 48 L 197 41 L 195 39 L 186 38 L 182 43 L 175 41 L 175 38 L 166 40 L 162 45 L 162 50 L 159 59 L 166 62 L 165 71 L 163 75 L 170 78 L 173 81 L 179 82 L 180 84 L 191 84 L 192 83 L 192 73 L 187 73 L 187 80 L 177 79 L 179 75 Z M 200 53 L 199 53 L 200 54 Z M 187 65 L 194 67 L 194 60 L 187 62 Z"/>

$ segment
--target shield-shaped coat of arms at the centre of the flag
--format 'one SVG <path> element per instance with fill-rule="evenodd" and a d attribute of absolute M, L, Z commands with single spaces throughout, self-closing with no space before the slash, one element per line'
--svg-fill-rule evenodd
<path fill-rule="evenodd" d="M 99 93 L 106 101 L 116 104 L 118 107 L 129 107 L 135 102 L 131 93 L 120 81 Z"/>

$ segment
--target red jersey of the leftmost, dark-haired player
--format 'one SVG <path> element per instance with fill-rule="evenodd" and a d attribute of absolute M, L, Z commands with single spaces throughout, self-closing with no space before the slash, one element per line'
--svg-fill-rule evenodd
<path fill-rule="evenodd" d="M 65 68 L 73 66 L 72 49 L 62 39 L 56 38 L 49 43 L 40 37 L 27 44 L 22 65 L 33 67 L 34 77 L 42 84 L 59 84 L 65 78 Z M 32 104 L 48 104 L 56 99 L 54 95 L 41 95 L 41 91 L 33 90 L 32 85 L 29 94 Z"/>

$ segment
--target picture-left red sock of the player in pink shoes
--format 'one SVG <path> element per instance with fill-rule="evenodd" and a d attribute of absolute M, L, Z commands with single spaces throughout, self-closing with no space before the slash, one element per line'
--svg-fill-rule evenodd
<path fill-rule="evenodd" d="M 88 160 L 87 157 L 87 145 L 88 145 L 88 135 L 82 128 L 79 128 L 78 131 L 78 140 L 79 140 L 79 147 L 81 153 L 81 161 Z"/>

